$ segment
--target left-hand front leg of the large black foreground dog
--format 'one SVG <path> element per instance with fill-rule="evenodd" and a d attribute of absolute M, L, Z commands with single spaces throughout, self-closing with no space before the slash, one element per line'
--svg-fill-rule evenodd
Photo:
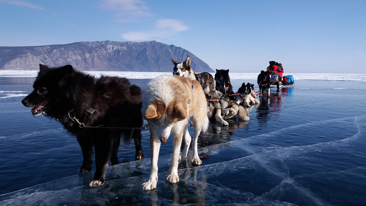
<path fill-rule="evenodd" d="M 83 164 L 78 170 L 78 173 L 90 172 L 93 166 L 93 145 L 91 141 L 85 140 L 85 137 L 77 137 L 81 152 L 83 153 Z"/>

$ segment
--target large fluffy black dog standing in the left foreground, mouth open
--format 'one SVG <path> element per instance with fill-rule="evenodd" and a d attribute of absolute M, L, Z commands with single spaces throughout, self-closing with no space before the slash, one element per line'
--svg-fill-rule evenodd
<path fill-rule="evenodd" d="M 83 154 L 79 173 L 89 172 L 95 150 L 96 172 L 90 186 L 104 183 L 110 157 L 116 157 L 121 135 L 125 143 L 131 140 L 131 129 L 80 128 L 69 117 L 77 118 L 86 126 L 141 127 L 141 89 L 131 85 L 127 78 L 101 76 L 94 78 L 76 71 L 71 65 L 48 68 L 40 65 L 33 84 L 34 91 L 22 103 L 34 107 L 34 117 L 44 113 L 56 119 L 76 136 Z M 136 159 L 142 159 L 141 130 L 132 132 Z"/>

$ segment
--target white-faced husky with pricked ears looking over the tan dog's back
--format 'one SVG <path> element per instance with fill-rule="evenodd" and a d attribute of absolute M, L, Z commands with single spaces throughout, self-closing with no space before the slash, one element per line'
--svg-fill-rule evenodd
<path fill-rule="evenodd" d="M 173 59 L 172 62 L 174 63 L 173 75 L 187 77 L 190 78 L 190 80 L 197 80 L 205 93 L 215 90 L 215 81 L 210 73 L 194 73 L 194 70 L 191 68 L 190 56 L 187 56 L 187 59 L 184 62 L 177 62 Z"/>

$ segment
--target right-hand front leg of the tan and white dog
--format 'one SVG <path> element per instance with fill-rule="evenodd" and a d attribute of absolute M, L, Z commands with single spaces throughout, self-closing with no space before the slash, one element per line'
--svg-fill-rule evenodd
<path fill-rule="evenodd" d="M 167 178 L 167 182 L 169 182 L 169 183 L 178 183 L 179 182 L 178 160 L 179 160 L 179 151 L 180 151 L 180 146 L 182 145 L 182 137 L 183 137 L 184 130 L 185 129 L 183 128 L 179 135 L 173 134 L 173 155 L 172 155 L 172 160 L 170 161 L 170 168 L 168 170 L 168 178 Z"/>

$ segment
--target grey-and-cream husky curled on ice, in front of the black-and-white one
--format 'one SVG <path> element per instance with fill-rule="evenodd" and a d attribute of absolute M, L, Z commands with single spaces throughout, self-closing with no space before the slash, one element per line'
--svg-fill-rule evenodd
<path fill-rule="evenodd" d="M 243 106 L 237 104 L 236 100 L 232 100 L 228 95 L 224 95 L 220 98 L 219 102 L 221 104 L 221 114 L 223 115 L 223 119 L 229 119 L 238 114 L 240 120 L 249 121 L 248 112 Z"/>

